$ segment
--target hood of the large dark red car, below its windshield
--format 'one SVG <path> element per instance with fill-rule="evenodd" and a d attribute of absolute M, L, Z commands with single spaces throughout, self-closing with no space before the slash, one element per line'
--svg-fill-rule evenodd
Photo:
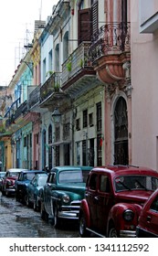
<path fill-rule="evenodd" d="M 151 190 L 121 191 L 117 193 L 116 198 L 126 202 L 144 203 L 152 194 Z"/>

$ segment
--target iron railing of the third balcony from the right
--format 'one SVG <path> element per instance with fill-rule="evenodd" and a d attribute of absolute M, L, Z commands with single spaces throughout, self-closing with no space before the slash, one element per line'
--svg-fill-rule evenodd
<path fill-rule="evenodd" d="M 47 98 L 61 87 L 61 73 L 54 72 L 47 81 L 40 87 L 40 102 Z"/>

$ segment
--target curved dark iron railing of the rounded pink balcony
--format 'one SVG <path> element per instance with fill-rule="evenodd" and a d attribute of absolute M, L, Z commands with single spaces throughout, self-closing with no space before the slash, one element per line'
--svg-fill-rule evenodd
<path fill-rule="evenodd" d="M 109 23 L 99 28 L 92 36 L 89 50 L 91 61 L 99 59 L 111 52 L 124 52 L 131 50 L 131 24 Z"/>

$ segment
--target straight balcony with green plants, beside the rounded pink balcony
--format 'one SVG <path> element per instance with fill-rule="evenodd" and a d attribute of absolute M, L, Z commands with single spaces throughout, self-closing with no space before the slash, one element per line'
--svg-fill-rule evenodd
<path fill-rule="evenodd" d="M 71 98 L 76 98 L 82 93 L 97 86 L 96 71 L 90 62 L 88 52 L 89 42 L 82 42 L 62 65 L 62 90 Z"/>

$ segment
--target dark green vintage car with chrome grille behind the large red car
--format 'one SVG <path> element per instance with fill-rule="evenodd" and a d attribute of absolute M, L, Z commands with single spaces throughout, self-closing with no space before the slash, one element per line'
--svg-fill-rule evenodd
<path fill-rule="evenodd" d="M 42 219 L 79 219 L 79 205 L 85 197 L 86 177 L 90 166 L 56 166 L 48 174 L 47 183 L 39 191 Z"/>

